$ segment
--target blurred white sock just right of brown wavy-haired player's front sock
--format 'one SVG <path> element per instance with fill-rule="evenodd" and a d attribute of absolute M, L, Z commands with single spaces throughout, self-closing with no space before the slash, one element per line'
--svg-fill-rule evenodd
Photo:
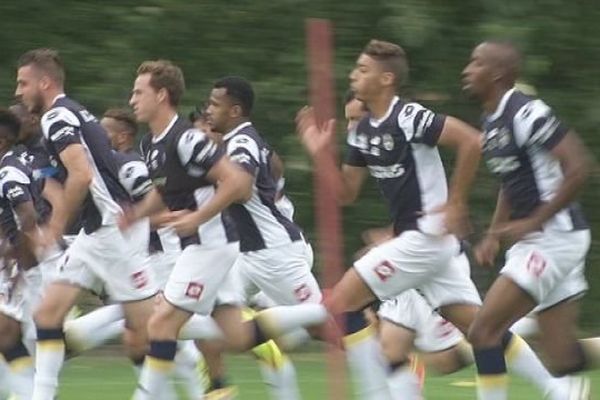
<path fill-rule="evenodd" d="M 204 387 L 197 369 L 201 357 L 200 352 L 191 340 L 177 343 L 175 376 L 185 387 L 190 399 L 200 399 L 204 396 Z"/>

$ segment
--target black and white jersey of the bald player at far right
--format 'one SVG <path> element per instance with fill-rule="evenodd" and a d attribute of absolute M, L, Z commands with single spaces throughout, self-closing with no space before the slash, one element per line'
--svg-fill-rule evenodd
<path fill-rule="evenodd" d="M 483 156 L 502 182 L 511 219 L 526 218 L 556 195 L 563 181 L 551 150 L 568 129 L 546 103 L 515 89 L 502 97 L 496 111 L 483 121 Z M 545 229 L 587 229 L 581 207 L 571 203 L 544 224 Z"/>

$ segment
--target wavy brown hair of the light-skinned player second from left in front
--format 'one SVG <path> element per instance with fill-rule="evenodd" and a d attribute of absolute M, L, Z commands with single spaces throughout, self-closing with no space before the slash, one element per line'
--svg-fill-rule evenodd
<path fill-rule="evenodd" d="M 169 60 L 144 61 L 137 69 L 138 75 L 150 74 L 150 86 L 154 90 L 166 89 L 169 103 L 177 107 L 185 92 L 185 80 L 181 68 Z"/>

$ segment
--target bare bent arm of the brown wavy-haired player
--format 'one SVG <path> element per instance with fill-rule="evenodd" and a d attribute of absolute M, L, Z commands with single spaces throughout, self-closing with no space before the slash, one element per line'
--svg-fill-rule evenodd
<path fill-rule="evenodd" d="M 200 225 L 229 207 L 230 204 L 244 203 L 252 196 L 254 177 L 243 172 L 227 158 L 223 157 L 217 161 L 208 171 L 207 177 L 216 183 L 216 190 L 211 199 L 196 211 L 181 212 L 170 224 L 180 236 L 193 234 Z"/>

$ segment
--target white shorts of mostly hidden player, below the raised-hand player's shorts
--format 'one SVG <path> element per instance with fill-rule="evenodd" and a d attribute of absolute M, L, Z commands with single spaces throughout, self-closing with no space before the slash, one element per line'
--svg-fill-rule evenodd
<path fill-rule="evenodd" d="M 463 340 L 460 331 L 435 312 L 416 290 L 381 304 L 379 317 L 415 333 L 415 348 L 424 353 L 444 351 Z"/>

